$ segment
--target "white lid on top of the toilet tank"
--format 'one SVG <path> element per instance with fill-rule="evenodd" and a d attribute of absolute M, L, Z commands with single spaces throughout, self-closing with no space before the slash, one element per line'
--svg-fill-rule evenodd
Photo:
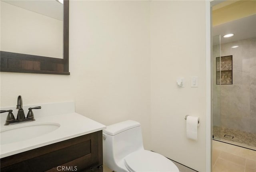
<path fill-rule="evenodd" d="M 114 136 L 120 132 L 132 129 L 134 127 L 140 126 L 140 123 L 132 120 L 123 121 L 113 125 L 108 125 L 106 129 L 103 130 L 105 134 Z"/>

